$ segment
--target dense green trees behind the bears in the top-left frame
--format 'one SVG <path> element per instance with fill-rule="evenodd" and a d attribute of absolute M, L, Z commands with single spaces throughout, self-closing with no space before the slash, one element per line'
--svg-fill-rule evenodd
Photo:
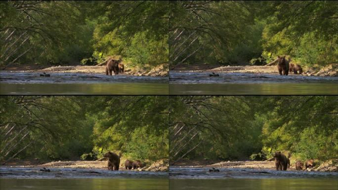
<path fill-rule="evenodd" d="M 168 64 L 166 1 L 1 1 L 0 67 L 13 63 Z"/>

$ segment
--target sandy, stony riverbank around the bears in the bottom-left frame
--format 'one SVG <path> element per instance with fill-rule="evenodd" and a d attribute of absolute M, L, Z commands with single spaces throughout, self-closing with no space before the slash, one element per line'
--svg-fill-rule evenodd
<path fill-rule="evenodd" d="M 166 160 L 158 160 L 150 163 L 143 168 L 135 169 L 133 171 L 153 171 L 153 172 L 165 172 L 168 171 L 168 164 Z M 37 160 L 17 160 L 8 162 L 3 167 L 24 167 L 24 168 L 82 168 L 82 169 L 107 169 L 107 160 L 104 161 L 52 161 L 52 162 L 40 162 Z M 121 161 L 119 170 L 126 170 L 124 162 Z"/>

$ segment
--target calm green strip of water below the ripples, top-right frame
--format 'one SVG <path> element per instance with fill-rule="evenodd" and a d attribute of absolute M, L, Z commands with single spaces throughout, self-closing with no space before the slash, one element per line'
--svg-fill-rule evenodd
<path fill-rule="evenodd" d="M 336 83 L 169 84 L 170 95 L 338 95 Z"/>

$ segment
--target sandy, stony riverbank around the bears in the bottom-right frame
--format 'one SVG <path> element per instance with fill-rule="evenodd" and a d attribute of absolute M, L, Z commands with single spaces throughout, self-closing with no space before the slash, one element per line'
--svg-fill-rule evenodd
<path fill-rule="evenodd" d="M 197 167 L 197 168 L 247 168 L 247 169 L 271 169 L 275 170 L 275 161 L 221 161 L 212 163 L 206 160 L 185 160 L 177 162 L 175 167 Z M 296 170 L 295 163 L 291 162 L 288 170 Z M 337 166 L 334 165 L 332 160 L 315 165 L 309 171 L 323 171 L 323 172 L 337 172 Z"/>

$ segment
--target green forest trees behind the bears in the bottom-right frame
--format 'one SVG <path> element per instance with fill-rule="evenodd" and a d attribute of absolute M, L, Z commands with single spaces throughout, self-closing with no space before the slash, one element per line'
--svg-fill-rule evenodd
<path fill-rule="evenodd" d="M 337 96 L 170 96 L 169 159 L 338 158 Z"/>

